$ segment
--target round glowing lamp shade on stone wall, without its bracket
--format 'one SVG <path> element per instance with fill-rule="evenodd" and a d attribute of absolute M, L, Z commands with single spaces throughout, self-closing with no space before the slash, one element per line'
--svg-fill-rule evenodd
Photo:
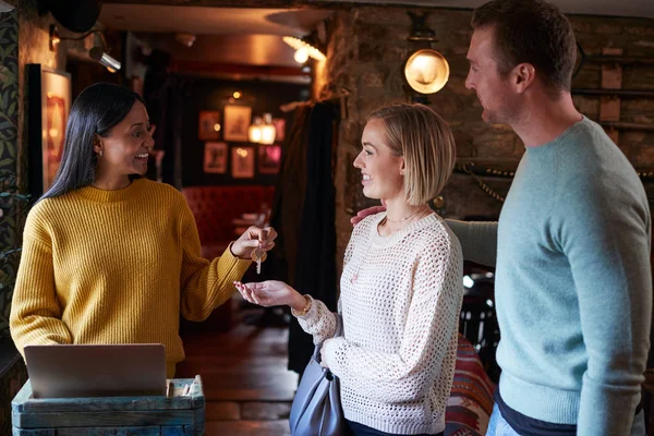
<path fill-rule="evenodd" d="M 421 94 L 434 94 L 447 83 L 449 64 L 436 50 L 417 50 L 407 60 L 404 77 L 414 90 Z"/>

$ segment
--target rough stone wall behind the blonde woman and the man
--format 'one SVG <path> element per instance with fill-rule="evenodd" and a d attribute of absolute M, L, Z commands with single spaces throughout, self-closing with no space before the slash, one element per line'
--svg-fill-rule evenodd
<path fill-rule="evenodd" d="M 429 100 L 455 132 L 459 165 L 473 161 L 476 167 L 513 170 L 524 150 L 521 141 L 508 126 L 484 123 L 481 105 L 474 93 L 464 86 L 472 12 L 429 11 L 427 23 L 438 38 L 432 48 L 443 53 L 450 65 L 446 87 L 429 96 Z M 620 47 L 625 56 L 654 57 L 654 20 L 571 16 L 571 22 L 586 56 L 598 55 L 604 47 Z M 416 43 L 407 40 L 410 29 L 411 20 L 405 8 L 340 10 L 328 22 L 327 62 L 317 73 L 324 76 L 316 81 L 323 85 L 314 94 L 336 96 L 342 88 L 349 92 L 348 117 L 341 121 L 336 170 L 339 263 L 351 232 L 350 217 L 375 204 L 363 196 L 361 174 L 352 167 L 360 150 L 365 117 L 379 106 L 408 101 L 403 90 L 403 63 L 417 49 Z M 576 76 L 573 87 L 596 88 L 600 81 L 601 65 L 586 62 Z M 654 65 L 625 65 L 622 87 L 654 88 Z M 585 114 L 597 118 L 600 97 L 574 96 L 574 100 Z M 623 99 L 621 112 L 621 121 L 654 125 L 654 98 Z M 637 168 L 654 171 L 652 132 L 620 132 L 619 145 Z M 498 177 L 475 179 L 461 171 L 455 172 L 443 192 L 446 202 L 443 215 L 497 218 L 501 203 L 484 192 L 479 182 L 504 196 L 510 181 L 510 178 Z"/>

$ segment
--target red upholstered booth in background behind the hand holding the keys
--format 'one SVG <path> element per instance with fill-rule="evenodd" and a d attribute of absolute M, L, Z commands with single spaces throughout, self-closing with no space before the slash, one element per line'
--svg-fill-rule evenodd
<path fill-rule="evenodd" d="M 259 213 L 265 205 L 271 206 L 275 186 L 190 186 L 182 189 L 182 194 L 195 217 L 202 255 L 213 259 L 238 238 L 232 222 L 234 219 L 243 214 Z M 183 322 L 182 329 L 226 331 L 230 325 L 231 305 L 228 302 L 214 311 L 204 323 Z"/>

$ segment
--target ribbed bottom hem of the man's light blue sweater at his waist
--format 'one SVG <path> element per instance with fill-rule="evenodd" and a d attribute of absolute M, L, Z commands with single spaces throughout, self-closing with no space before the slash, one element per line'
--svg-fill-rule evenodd
<path fill-rule="evenodd" d="M 499 378 L 499 391 L 507 405 L 523 415 L 550 423 L 577 424 L 580 390 L 534 385 L 505 371 Z"/>

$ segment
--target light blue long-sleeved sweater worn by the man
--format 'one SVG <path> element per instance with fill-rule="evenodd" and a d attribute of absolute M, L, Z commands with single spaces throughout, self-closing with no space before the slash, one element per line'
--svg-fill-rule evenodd
<path fill-rule="evenodd" d="M 497 256 L 505 402 L 578 435 L 628 435 L 650 348 L 651 221 L 602 128 L 584 117 L 528 148 L 499 223 L 448 223 L 465 258 Z"/>

